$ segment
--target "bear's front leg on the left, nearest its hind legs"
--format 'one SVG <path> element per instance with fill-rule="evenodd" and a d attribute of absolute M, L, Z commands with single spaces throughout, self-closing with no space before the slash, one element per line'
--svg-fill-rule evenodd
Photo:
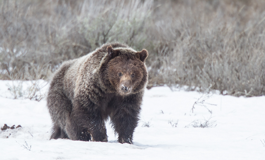
<path fill-rule="evenodd" d="M 87 129 L 91 134 L 92 141 L 108 142 L 105 122 L 95 104 L 89 102 L 89 100 L 86 103 L 80 102 L 76 102 L 73 109 L 78 125 Z"/>

